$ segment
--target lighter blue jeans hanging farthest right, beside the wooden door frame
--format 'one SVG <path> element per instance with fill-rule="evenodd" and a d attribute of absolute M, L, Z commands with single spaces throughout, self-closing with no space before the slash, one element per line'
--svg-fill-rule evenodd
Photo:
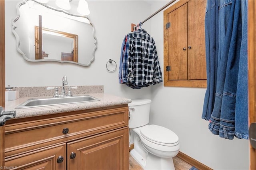
<path fill-rule="evenodd" d="M 236 93 L 235 135 L 238 138 L 248 139 L 248 1 L 242 0 L 241 3 L 242 43 Z"/>

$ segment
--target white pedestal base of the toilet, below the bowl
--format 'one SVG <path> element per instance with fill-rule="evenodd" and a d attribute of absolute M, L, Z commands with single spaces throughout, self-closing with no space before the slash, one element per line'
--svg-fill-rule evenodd
<path fill-rule="evenodd" d="M 144 158 L 135 149 L 130 154 L 144 170 L 175 170 L 172 158 L 160 158 L 149 152 Z"/>

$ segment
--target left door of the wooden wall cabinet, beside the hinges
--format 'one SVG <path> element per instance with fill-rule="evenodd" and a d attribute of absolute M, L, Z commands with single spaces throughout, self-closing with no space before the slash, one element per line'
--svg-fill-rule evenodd
<path fill-rule="evenodd" d="M 169 80 L 188 79 L 188 4 L 184 4 L 168 14 L 168 64 L 171 71 L 168 72 Z"/>

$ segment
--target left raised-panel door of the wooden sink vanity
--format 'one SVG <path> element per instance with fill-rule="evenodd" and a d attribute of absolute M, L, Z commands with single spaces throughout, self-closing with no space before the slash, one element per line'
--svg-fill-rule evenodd
<path fill-rule="evenodd" d="M 66 143 L 8 158 L 4 169 L 65 170 Z"/>

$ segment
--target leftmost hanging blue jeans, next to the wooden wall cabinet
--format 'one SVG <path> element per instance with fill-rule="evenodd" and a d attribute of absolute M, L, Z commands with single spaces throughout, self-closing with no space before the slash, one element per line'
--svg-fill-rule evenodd
<path fill-rule="evenodd" d="M 204 97 L 202 119 L 209 120 L 212 114 L 217 78 L 218 59 L 218 3 L 208 0 L 205 14 L 207 89 Z"/>

